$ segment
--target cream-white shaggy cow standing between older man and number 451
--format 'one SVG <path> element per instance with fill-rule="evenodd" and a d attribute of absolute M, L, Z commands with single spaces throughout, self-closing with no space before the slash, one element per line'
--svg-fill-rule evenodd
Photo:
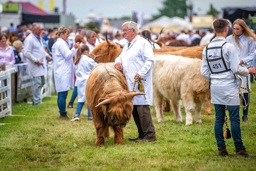
<path fill-rule="evenodd" d="M 180 100 L 186 111 L 186 125 L 192 124 L 195 111 L 196 123 L 200 119 L 201 106 L 210 102 L 209 81 L 200 73 L 202 60 L 175 55 L 155 55 L 153 72 L 153 103 L 158 122 L 164 121 L 164 99 L 169 99 L 176 122 L 182 122 Z"/>

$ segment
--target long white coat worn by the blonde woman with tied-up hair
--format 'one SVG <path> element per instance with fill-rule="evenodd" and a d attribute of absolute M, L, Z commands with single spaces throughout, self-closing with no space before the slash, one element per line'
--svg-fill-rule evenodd
<path fill-rule="evenodd" d="M 68 43 L 58 38 L 52 46 L 52 60 L 54 67 L 54 80 L 57 92 L 68 91 L 74 88 L 73 56 L 77 50 L 71 50 Z"/>

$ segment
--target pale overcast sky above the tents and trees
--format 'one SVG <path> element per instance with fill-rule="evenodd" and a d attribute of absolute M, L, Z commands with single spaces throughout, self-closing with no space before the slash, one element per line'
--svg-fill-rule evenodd
<path fill-rule="evenodd" d="M 12 0 L 13 2 L 29 2 L 29 0 Z M 44 10 L 49 12 L 49 0 L 44 2 Z M 199 15 L 204 15 L 209 10 L 210 3 L 221 11 L 225 7 L 256 7 L 256 0 L 187 0 L 193 3 L 193 12 Z M 0 0 L 1 3 L 7 2 Z M 31 0 L 31 3 L 38 6 L 38 0 Z M 152 14 L 157 14 L 158 9 L 162 7 L 163 0 L 66 0 L 67 13 L 73 13 L 76 18 L 86 18 L 90 11 L 93 10 L 95 16 L 102 15 L 103 17 L 113 18 L 122 16 L 131 16 L 133 11 L 143 12 L 145 18 L 150 18 Z M 62 0 L 55 0 L 55 6 L 59 7 L 62 12 Z"/>

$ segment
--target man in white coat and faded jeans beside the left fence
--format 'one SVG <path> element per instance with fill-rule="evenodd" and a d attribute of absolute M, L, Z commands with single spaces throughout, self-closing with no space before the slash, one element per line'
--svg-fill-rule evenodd
<path fill-rule="evenodd" d="M 41 103 L 41 88 L 45 83 L 46 58 L 51 58 L 45 51 L 42 38 L 40 37 L 41 26 L 32 24 L 32 33 L 24 40 L 24 55 L 28 58 L 28 68 L 33 76 L 34 94 L 33 104 Z"/>

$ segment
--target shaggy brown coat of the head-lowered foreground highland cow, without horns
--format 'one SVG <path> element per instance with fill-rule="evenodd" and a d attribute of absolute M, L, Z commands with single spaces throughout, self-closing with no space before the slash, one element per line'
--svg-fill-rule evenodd
<path fill-rule="evenodd" d="M 123 127 L 117 125 L 125 126 L 131 119 L 133 103 L 129 92 L 124 74 L 115 69 L 114 63 L 100 63 L 92 69 L 87 81 L 86 99 L 96 129 L 95 146 L 105 144 L 109 127 L 114 131 L 114 143 L 123 143 Z M 105 99 L 110 99 L 110 103 L 95 107 Z"/>

